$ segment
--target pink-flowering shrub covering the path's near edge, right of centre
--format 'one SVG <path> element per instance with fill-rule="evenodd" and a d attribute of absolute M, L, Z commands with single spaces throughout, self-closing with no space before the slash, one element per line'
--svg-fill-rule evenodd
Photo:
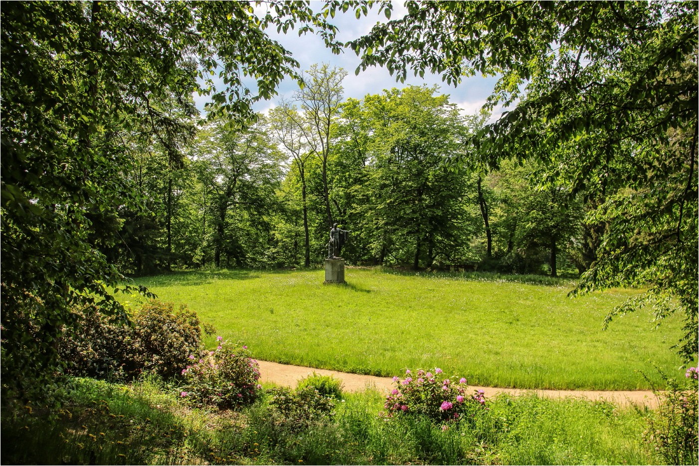
<path fill-rule="evenodd" d="M 485 406 L 482 390 L 468 393 L 466 379 L 440 377 L 442 370 L 436 368 L 434 374 L 420 369 L 413 379 L 410 369 L 405 371 L 407 377 L 394 377 L 395 388 L 386 398 L 384 408 L 388 415 L 417 414 L 433 421 L 456 420 L 474 409 Z"/>

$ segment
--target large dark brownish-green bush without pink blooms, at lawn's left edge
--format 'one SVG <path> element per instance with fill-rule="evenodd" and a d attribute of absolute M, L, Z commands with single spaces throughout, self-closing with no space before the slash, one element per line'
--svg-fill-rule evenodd
<path fill-rule="evenodd" d="M 172 377 L 199 352 L 199 319 L 185 306 L 175 310 L 172 303 L 152 300 L 134 312 L 130 326 L 94 306 L 73 314 L 75 326 L 58 344 L 70 375 L 121 380 L 147 371 Z"/>

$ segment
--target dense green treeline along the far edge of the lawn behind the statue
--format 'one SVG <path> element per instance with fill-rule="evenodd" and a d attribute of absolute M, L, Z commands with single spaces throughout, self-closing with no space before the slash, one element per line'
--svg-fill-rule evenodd
<path fill-rule="evenodd" d="M 318 264 L 333 223 L 352 231 L 343 256 L 354 264 L 586 270 L 582 196 L 538 189 L 534 162 L 483 169 L 466 138 L 487 115 L 463 115 L 435 87 L 342 100 L 343 75 L 312 68 L 305 95 L 247 129 L 213 119 L 182 166 L 143 154 L 124 178 L 148 208 L 120 212 L 109 253 L 122 270 Z M 463 158 L 473 163 L 456 166 Z"/>

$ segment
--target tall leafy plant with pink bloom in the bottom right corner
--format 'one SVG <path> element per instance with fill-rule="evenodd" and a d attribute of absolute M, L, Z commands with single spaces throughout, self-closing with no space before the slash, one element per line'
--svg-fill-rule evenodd
<path fill-rule="evenodd" d="M 666 465 L 694 465 L 699 446 L 696 367 L 687 371 L 687 384 L 662 375 L 668 389 L 656 391 L 660 405 L 648 418 L 647 430 L 643 432 L 644 442 L 663 458 Z"/>

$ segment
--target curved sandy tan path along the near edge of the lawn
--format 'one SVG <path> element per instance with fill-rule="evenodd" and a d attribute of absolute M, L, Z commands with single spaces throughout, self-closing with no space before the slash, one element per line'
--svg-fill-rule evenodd
<path fill-rule="evenodd" d="M 345 391 L 363 391 L 365 388 L 376 388 L 380 391 L 389 391 L 393 388 L 391 377 L 375 377 L 373 375 L 349 374 L 336 370 L 314 369 L 313 367 L 303 367 L 300 365 L 288 365 L 270 363 L 268 361 L 257 361 L 260 365 L 260 381 L 273 382 L 281 386 L 296 386 L 299 379 L 303 379 L 308 374 L 315 372 L 322 375 L 333 375 L 343 381 Z M 470 385 L 473 390 L 484 391 L 486 397 L 492 397 L 498 393 L 509 393 L 510 395 L 521 395 L 525 393 L 536 393 L 546 398 L 587 398 L 588 400 L 605 400 L 614 402 L 617 405 L 626 406 L 630 404 L 647 406 L 654 408 L 658 406 L 658 399 L 650 390 L 637 391 L 616 391 L 616 390 L 524 390 L 520 388 L 493 388 Z"/>

